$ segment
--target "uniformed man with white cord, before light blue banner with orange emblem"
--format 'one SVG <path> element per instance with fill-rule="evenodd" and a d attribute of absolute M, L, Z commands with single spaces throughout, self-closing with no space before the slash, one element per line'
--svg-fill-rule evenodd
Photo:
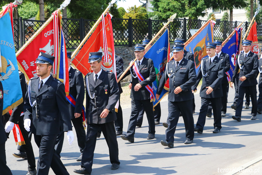
<path fill-rule="evenodd" d="M 206 122 L 206 113 L 210 102 L 214 111 L 213 133 L 218 133 L 221 129 L 221 97 L 223 96 L 222 79 L 224 77 L 225 63 L 216 56 L 215 49 L 216 43 L 207 43 L 206 53 L 208 57 L 202 59 L 200 69 L 196 76 L 197 82 L 192 86 L 192 90 L 195 90 L 202 79 L 202 86 L 200 89 L 201 108 L 196 127 L 194 128 L 194 130 L 199 134 L 203 133 Z"/>

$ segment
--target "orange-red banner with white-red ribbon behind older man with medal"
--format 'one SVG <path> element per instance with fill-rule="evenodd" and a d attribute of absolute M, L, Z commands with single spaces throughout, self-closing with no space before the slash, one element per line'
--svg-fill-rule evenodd
<path fill-rule="evenodd" d="M 108 62 L 105 61 L 104 53 L 104 42 L 103 42 L 103 23 L 102 21 L 98 24 L 95 31 L 92 33 L 91 37 L 84 44 L 83 48 L 77 54 L 77 56 L 72 60 L 72 63 L 77 67 L 83 75 L 92 72 L 90 64 L 88 63 L 89 52 L 102 52 L 102 69 L 107 71 L 114 71 L 114 38 L 113 38 L 113 29 L 111 23 L 111 15 L 107 14 L 104 17 L 104 32 L 106 35 L 106 44 L 107 44 L 107 54 Z"/>

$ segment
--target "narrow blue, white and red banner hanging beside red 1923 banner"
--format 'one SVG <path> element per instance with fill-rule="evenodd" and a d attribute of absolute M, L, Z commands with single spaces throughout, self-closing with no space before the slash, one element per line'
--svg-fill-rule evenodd
<path fill-rule="evenodd" d="M 60 51 L 57 64 L 57 79 L 65 84 L 66 95 L 69 95 L 68 61 L 66 53 L 66 42 L 62 27 L 60 29 Z"/>

